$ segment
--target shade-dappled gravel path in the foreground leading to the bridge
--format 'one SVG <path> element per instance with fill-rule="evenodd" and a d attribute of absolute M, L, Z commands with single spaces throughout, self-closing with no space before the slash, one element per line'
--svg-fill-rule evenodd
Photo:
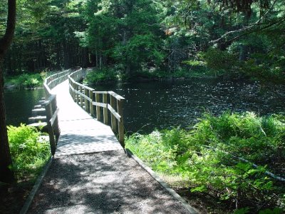
<path fill-rule="evenodd" d="M 188 213 L 133 158 L 107 151 L 55 158 L 28 213 Z"/>

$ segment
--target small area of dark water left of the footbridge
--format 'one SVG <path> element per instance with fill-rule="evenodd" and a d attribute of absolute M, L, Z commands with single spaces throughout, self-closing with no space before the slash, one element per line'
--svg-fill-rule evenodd
<path fill-rule="evenodd" d="M 27 124 L 33 106 L 38 104 L 43 94 L 43 89 L 4 91 L 7 125 Z"/>

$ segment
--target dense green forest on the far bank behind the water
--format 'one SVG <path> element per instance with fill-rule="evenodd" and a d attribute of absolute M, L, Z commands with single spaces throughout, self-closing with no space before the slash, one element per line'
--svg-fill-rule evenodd
<path fill-rule="evenodd" d="M 1 35 L 7 6 L 0 4 Z M 284 81 L 282 0 L 19 0 L 17 7 L 6 76 L 95 66 L 103 78 L 127 80 Z"/>

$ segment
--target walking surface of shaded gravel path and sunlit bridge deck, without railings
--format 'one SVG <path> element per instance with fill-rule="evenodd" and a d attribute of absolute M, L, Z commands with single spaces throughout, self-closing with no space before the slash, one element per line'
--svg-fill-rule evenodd
<path fill-rule="evenodd" d="M 67 88 L 54 90 L 61 136 L 28 213 L 189 213 L 128 158 L 108 126 L 71 103 Z"/>

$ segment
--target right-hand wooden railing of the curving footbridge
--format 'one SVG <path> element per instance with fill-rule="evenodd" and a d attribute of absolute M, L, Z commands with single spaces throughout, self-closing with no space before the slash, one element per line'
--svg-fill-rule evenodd
<path fill-rule="evenodd" d="M 74 71 L 68 75 L 69 92 L 73 101 L 78 103 L 91 116 L 95 116 L 98 121 L 103 121 L 103 123 L 109 125 L 114 133 L 118 133 L 119 142 L 125 147 L 123 124 L 123 103 L 125 98 L 113 91 L 95 91 L 93 88 L 78 83 L 84 75 L 83 70 Z M 101 114 L 102 108 L 103 116 Z"/>

